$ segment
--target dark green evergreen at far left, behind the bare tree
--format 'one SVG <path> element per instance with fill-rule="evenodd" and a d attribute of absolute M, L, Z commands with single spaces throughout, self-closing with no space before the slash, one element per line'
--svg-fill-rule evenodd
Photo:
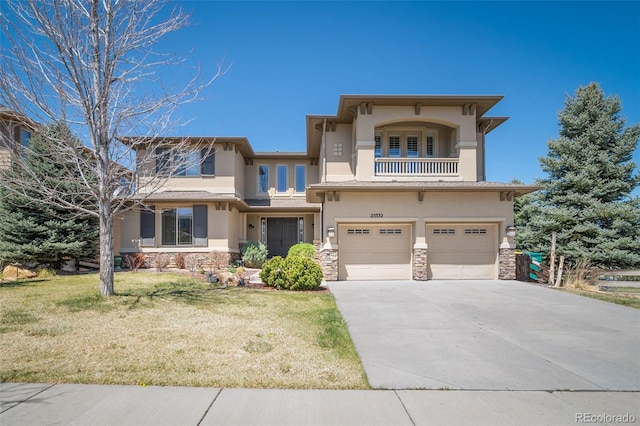
<path fill-rule="evenodd" d="M 69 149 L 82 149 L 65 125 L 51 126 L 31 138 L 29 149 L 16 153 L 26 157 L 31 173 L 14 162 L 2 172 L 3 176 L 19 174 L 23 179 L 35 179 L 40 185 L 60 188 L 70 198 L 78 199 L 80 187 L 69 176 L 73 168 L 55 162 L 49 151 L 47 141 L 52 138 L 67 141 Z M 20 187 L 9 185 L 0 189 L 0 261 L 59 268 L 64 258 L 93 259 L 99 249 L 98 232 L 95 217 L 43 203 Z"/>

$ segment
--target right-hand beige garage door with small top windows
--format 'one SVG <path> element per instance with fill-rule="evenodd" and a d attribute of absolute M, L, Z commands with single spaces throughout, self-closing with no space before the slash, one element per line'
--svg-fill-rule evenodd
<path fill-rule="evenodd" d="M 429 279 L 495 279 L 497 225 L 427 225 Z"/>

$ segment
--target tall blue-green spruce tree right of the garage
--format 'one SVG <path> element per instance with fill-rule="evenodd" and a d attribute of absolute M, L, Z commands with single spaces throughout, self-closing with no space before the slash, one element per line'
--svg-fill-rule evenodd
<path fill-rule="evenodd" d="M 559 112 L 560 134 L 540 159 L 547 174 L 538 193 L 516 209 L 521 249 L 550 252 L 557 233 L 558 254 L 602 268 L 640 265 L 640 184 L 633 151 L 640 125 L 625 127 L 618 97 L 597 83 L 579 87 Z"/>

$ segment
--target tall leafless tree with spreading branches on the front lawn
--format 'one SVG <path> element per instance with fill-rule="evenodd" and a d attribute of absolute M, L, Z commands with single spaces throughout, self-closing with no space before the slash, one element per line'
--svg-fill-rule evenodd
<path fill-rule="evenodd" d="M 184 85 L 168 87 L 159 73 L 185 62 L 154 49 L 188 25 L 189 17 L 179 9 L 166 12 L 164 2 L 153 0 L 15 0 L 0 6 L 0 104 L 15 113 L 18 124 L 64 122 L 84 141 L 79 148 L 50 140 L 54 161 L 69 168 L 81 193 L 70 197 L 28 180 L 11 182 L 12 188 L 29 186 L 48 203 L 100 219 L 105 296 L 114 294 L 114 216 L 144 202 L 144 196 L 129 195 L 153 194 L 184 167 L 170 162 L 163 173 L 150 172 L 156 148 L 164 147 L 168 158 L 213 149 L 211 140 L 157 136 L 169 134 L 178 124 L 172 119 L 176 108 L 195 100 L 222 73 L 218 67 L 203 79 L 196 70 Z"/>

